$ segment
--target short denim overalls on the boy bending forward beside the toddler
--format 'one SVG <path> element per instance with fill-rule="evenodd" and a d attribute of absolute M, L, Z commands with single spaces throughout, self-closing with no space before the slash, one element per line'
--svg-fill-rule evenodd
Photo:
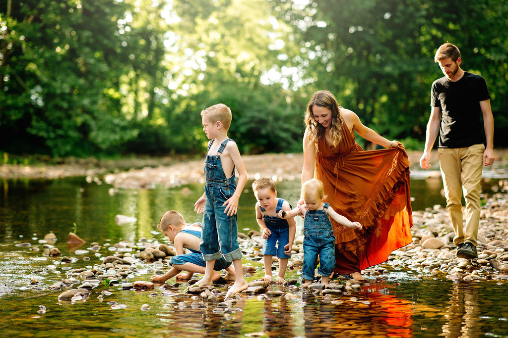
<path fill-rule="evenodd" d="M 275 213 L 278 213 L 282 210 L 282 203 L 284 200 L 279 198 L 277 202 L 277 206 L 275 207 Z M 290 208 L 291 205 L 290 205 Z M 265 208 L 261 205 L 259 206 L 261 212 L 265 212 Z M 291 258 L 291 255 L 287 255 L 284 253 L 284 245 L 289 243 L 289 224 L 288 221 L 282 218 L 278 218 L 277 216 L 269 216 L 263 215 L 263 219 L 265 220 L 266 227 L 272 233 L 265 239 L 265 243 L 263 244 L 263 251 L 261 254 L 263 255 L 277 255 L 278 258 Z M 275 244 L 279 241 L 278 248 L 275 247 Z"/>

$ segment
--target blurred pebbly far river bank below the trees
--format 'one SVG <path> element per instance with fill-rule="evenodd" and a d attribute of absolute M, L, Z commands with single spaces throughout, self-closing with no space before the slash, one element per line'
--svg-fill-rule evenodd
<path fill-rule="evenodd" d="M 408 152 L 411 176 L 416 178 L 439 177 L 437 151 L 431 153 L 431 169 L 422 170 L 419 160 L 422 153 Z M 508 149 L 495 149 L 496 161 L 484 168 L 484 177 L 508 177 Z M 242 156 L 249 179 L 260 176 L 280 179 L 299 179 L 303 165 L 303 154 L 262 154 Z M 203 159 L 183 156 L 133 157 L 100 160 L 94 158 L 68 158 L 58 164 L 41 162 L 38 165 L 4 164 L 0 166 L 2 178 L 57 179 L 87 176 L 89 182 L 106 182 L 114 187 L 138 188 L 174 187 L 193 182 L 202 182 Z"/>

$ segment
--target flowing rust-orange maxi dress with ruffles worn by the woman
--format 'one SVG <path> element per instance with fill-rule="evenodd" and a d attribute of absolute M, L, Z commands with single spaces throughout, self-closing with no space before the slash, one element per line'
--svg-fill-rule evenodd
<path fill-rule="evenodd" d="M 362 224 L 361 230 L 354 230 L 331 220 L 336 274 L 377 265 L 411 243 L 409 160 L 402 146 L 364 151 L 344 123 L 336 147 L 325 137 L 319 139 L 315 177 L 323 181 L 326 202 Z"/>

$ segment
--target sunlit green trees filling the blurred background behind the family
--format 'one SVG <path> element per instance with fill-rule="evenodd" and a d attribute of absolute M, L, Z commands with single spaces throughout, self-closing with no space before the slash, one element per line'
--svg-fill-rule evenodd
<path fill-rule="evenodd" d="M 0 0 L 0 151 L 197 154 L 223 102 L 244 153 L 301 151 L 310 95 L 421 149 L 436 48 L 485 77 L 507 146 L 505 0 Z"/>

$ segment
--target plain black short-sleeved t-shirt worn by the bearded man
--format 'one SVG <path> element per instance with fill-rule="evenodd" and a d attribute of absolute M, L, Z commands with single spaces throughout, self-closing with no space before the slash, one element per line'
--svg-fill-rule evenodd
<path fill-rule="evenodd" d="M 441 107 L 440 148 L 461 148 L 485 142 L 480 101 L 490 99 L 484 78 L 464 72 L 456 82 L 446 77 L 432 84 L 430 105 Z"/>

